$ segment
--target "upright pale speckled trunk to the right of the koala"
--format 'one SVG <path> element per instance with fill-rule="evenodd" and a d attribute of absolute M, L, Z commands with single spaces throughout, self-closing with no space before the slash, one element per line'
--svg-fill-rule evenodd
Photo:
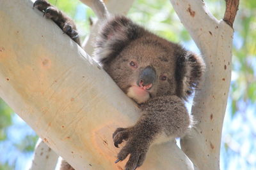
<path fill-rule="evenodd" d="M 192 114 L 198 124 L 182 139 L 182 150 L 199 169 L 220 169 L 223 118 L 231 78 L 233 29 L 216 20 L 204 1 L 171 0 L 180 21 L 206 63 L 205 81 L 195 94 Z"/>

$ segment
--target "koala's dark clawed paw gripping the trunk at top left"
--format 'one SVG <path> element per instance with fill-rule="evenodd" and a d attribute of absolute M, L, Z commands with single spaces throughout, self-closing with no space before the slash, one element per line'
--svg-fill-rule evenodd
<path fill-rule="evenodd" d="M 71 18 L 67 17 L 64 13 L 45 0 L 36 0 L 33 4 L 33 8 L 37 8 L 44 12 L 45 17 L 51 18 L 51 20 L 53 20 L 63 30 L 63 32 L 80 45 L 76 25 Z"/>

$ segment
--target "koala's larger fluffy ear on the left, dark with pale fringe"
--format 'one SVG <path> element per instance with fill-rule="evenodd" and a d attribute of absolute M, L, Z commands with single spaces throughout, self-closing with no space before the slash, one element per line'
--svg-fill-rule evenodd
<path fill-rule="evenodd" d="M 102 25 L 96 39 L 94 56 L 101 64 L 113 60 L 124 46 L 140 38 L 145 30 L 129 18 L 117 15 L 110 17 Z"/>

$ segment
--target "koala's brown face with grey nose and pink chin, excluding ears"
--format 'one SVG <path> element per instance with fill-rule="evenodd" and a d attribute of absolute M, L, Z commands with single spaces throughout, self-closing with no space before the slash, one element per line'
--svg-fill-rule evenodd
<path fill-rule="evenodd" d="M 162 39 L 150 37 L 132 41 L 105 69 L 137 103 L 176 92 L 175 49 Z"/>

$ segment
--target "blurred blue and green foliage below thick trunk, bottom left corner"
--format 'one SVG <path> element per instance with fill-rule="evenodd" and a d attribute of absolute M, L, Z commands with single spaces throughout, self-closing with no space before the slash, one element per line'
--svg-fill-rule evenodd
<path fill-rule="evenodd" d="M 20 169 L 27 166 L 38 136 L 2 99 L 0 99 L 0 132 L 0 170 Z"/>

